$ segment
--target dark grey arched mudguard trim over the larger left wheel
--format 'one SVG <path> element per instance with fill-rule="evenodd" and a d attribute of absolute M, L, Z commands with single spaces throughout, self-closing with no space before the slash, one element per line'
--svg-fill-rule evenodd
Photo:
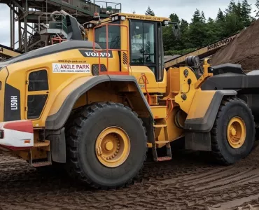
<path fill-rule="evenodd" d="M 82 81 L 82 78 L 78 78 L 78 80 Z M 73 83 L 78 83 L 78 80 L 74 80 Z M 76 101 L 78 98 L 87 92 L 87 90 L 90 90 L 95 85 L 98 85 L 99 83 L 104 82 L 132 82 L 134 85 L 136 85 L 137 90 L 139 91 L 139 94 L 141 95 L 142 102 L 144 103 L 144 106 L 146 107 L 146 111 L 148 111 L 150 117 L 153 119 L 153 114 L 151 112 L 150 107 L 148 106 L 148 102 L 146 101 L 146 98 L 141 91 L 136 78 L 134 76 L 113 76 L 113 75 L 105 75 L 105 76 L 92 76 L 85 78 L 85 83 L 82 83 L 81 85 L 77 85 L 76 89 L 71 90 L 70 94 L 67 95 L 66 99 L 64 99 L 64 102 L 62 103 L 62 106 L 59 108 L 57 113 L 52 114 L 51 116 L 48 116 L 48 118 L 45 121 L 45 129 L 46 130 L 60 130 L 62 127 L 64 127 L 66 120 L 69 118 L 69 115 L 73 109 L 74 104 L 76 104 Z M 64 92 L 66 90 L 63 90 Z M 59 94 L 62 94 L 63 92 L 59 92 Z"/>

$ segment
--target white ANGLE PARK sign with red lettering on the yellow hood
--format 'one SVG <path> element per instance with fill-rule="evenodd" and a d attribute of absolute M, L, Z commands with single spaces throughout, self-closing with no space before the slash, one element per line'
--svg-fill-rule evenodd
<path fill-rule="evenodd" d="M 90 73 L 90 64 L 52 64 L 53 73 Z"/>

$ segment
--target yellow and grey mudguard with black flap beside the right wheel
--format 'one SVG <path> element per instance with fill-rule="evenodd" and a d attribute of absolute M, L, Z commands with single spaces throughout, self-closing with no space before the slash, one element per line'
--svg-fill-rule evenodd
<path fill-rule="evenodd" d="M 211 151 L 211 129 L 224 96 L 235 96 L 235 90 L 196 92 L 185 122 L 185 147 L 194 151 Z"/>

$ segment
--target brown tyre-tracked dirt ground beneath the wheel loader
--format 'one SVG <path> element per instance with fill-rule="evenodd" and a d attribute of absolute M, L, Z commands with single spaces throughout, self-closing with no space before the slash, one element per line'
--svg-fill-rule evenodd
<path fill-rule="evenodd" d="M 170 162 L 147 162 L 134 185 L 108 192 L 0 153 L 0 209 L 246 210 L 258 204 L 258 142 L 248 158 L 229 167 L 190 152 L 175 153 Z"/>

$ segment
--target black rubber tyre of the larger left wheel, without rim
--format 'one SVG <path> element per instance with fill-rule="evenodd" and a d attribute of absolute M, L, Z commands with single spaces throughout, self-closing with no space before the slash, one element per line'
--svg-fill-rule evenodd
<path fill-rule="evenodd" d="M 146 129 L 137 113 L 113 102 L 97 103 L 77 111 L 66 127 L 67 169 L 73 178 L 103 190 L 127 186 L 139 174 L 147 152 Z M 95 143 L 107 127 L 120 127 L 130 138 L 130 153 L 118 167 L 99 162 Z"/>

